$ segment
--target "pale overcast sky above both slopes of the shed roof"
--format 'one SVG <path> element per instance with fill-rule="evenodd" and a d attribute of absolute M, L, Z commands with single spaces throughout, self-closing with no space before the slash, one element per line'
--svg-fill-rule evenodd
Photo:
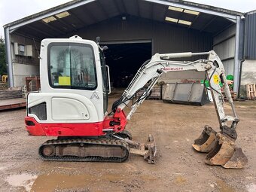
<path fill-rule="evenodd" d="M 256 9 L 256 0 L 187 0 L 233 11 L 248 12 Z M 0 36 L 4 36 L 3 25 L 31 14 L 53 8 L 70 0 L 0 0 Z"/>

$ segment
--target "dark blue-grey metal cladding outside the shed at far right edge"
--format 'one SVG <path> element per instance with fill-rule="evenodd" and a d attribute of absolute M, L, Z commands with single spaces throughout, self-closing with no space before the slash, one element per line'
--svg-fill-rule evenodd
<path fill-rule="evenodd" d="M 245 17 L 245 58 L 256 59 L 256 13 Z"/>

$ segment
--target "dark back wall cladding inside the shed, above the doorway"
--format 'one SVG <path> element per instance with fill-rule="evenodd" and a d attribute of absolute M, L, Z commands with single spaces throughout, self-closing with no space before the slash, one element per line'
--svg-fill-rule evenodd
<path fill-rule="evenodd" d="M 69 34 L 70 35 L 70 34 Z M 71 34 L 74 35 L 74 34 Z M 82 38 L 101 41 L 152 41 L 152 54 L 203 52 L 212 49 L 212 34 L 139 17 L 114 17 L 76 32 Z"/>

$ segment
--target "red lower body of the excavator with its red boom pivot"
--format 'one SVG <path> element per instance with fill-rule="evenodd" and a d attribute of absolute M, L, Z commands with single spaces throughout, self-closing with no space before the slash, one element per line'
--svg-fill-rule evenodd
<path fill-rule="evenodd" d="M 105 117 L 102 122 L 38 123 L 34 117 L 25 117 L 25 124 L 31 136 L 102 136 L 105 135 L 103 130 L 123 131 L 126 126 L 126 115 L 123 110 L 117 108 L 113 116 Z"/>

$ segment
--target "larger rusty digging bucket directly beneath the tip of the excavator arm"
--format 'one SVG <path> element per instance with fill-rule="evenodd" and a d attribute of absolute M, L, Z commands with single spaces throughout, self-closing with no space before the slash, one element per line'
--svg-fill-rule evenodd
<path fill-rule="evenodd" d="M 224 168 L 242 169 L 248 163 L 241 148 L 236 148 L 235 142 L 221 133 L 217 134 L 218 142 L 215 148 L 206 156 L 205 163 L 220 165 Z"/>

